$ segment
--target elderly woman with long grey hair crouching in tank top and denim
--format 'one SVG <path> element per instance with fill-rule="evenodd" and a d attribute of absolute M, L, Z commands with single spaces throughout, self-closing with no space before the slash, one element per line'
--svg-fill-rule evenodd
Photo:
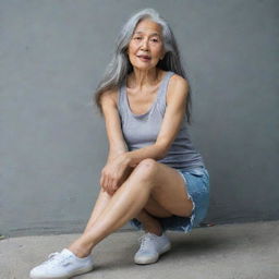
<path fill-rule="evenodd" d="M 168 23 L 153 9 L 123 26 L 95 100 L 109 154 L 83 234 L 51 253 L 31 278 L 70 278 L 94 268 L 95 245 L 128 221 L 143 229 L 136 264 L 171 247 L 166 231 L 189 232 L 206 217 L 209 175 L 187 132 L 191 89 Z"/>

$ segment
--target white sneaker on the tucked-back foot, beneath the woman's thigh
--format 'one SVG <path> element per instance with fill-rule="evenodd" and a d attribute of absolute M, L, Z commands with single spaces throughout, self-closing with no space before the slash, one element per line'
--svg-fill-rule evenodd
<path fill-rule="evenodd" d="M 142 241 L 142 244 L 135 253 L 134 262 L 140 265 L 156 263 L 162 253 L 171 248 L 171 243 L 165 233 L 158 236 L 147 232 L 138 240 Z"/>

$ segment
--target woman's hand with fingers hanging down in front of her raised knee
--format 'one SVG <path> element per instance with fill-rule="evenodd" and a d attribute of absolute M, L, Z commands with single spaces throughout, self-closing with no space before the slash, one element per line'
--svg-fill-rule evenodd
<path fill-rule="evenodd" d="M 100 186 L 112 195 L 123 182 L 128 168 L 129 160 L 125 154 L 110 160 L 101 170 Z"/>

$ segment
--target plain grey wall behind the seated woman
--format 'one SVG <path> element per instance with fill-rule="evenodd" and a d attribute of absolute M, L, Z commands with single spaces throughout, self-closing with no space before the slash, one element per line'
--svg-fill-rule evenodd
<path fill-rule="evenodd" d="M 147 7 L 169 21 L 189 72 L 192 141 L 210 173 L 206 221 L 279 218 L 278 1 L 0 4 L 0 233 L 84 229 L 107 156 L 90 98 L 120 27 Z"/>

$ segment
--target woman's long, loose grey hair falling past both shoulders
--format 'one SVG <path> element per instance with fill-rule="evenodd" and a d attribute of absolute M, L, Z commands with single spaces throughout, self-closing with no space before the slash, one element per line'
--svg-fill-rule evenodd
<path fill-rule="evenodd" d="M 102 80 L 99 82 L 95 90 L 95 105 L 98 107 L 101 116 L 104 114 L 100 104 L 101 95 L 107 90 L 119 88 L 122 82 L 125 80 L 126 75 L 133 71 L 133 66 L 129 60 L 126 49 L 133 36 L 134 29 L 136 28 L 137 24 L 144 19 L 150 19 L 153 22 L 156 22 L 162 27 L 165 57 L 162 60 L 159 60 L 159 62 L 157 63 L 157 68 L 160 68 L 165 71 L 172 71 L 187 80 L 185 71 L 183 70 L 180 61 L 180 51 L 174 35 L 167 21 L 161 17 L 159 13 L 154 9 L 148 8 L 141 10 L 133 14 L 123 25 L 120 34 L 116 39 L 116 50 L 112 59 L 105 71 Z M 185 113 L 187 117 L 187 122 L 190 124 L 192 110 L 191 92 L 192 90 L 189 83 L 189 94 L 186 99 Z"/>

